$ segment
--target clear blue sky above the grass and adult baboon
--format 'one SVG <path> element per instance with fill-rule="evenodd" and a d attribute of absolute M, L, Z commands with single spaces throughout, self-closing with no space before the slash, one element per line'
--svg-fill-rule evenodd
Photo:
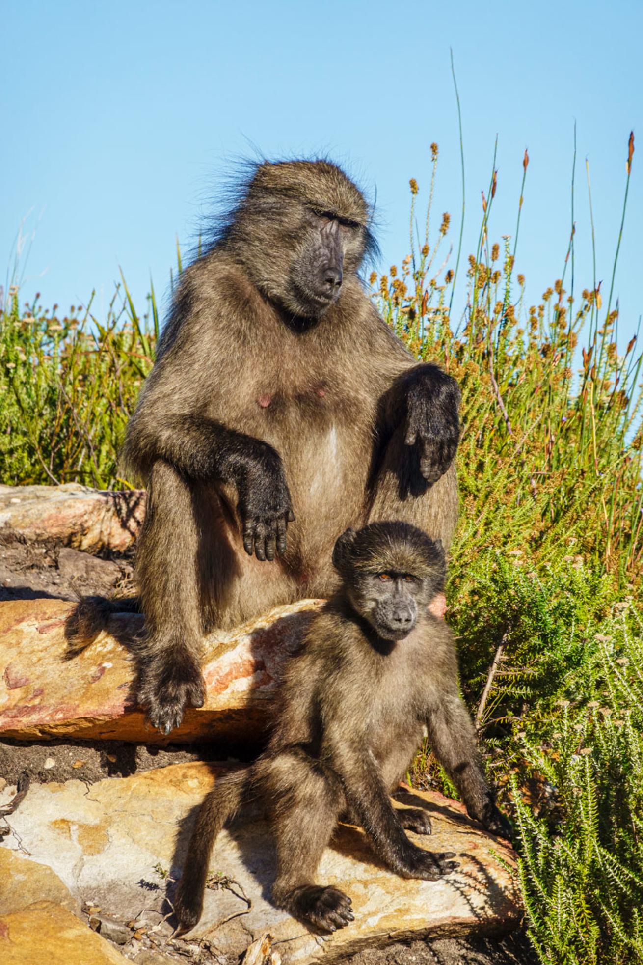
<path fill-rule="evenodd" d="M 616 281 L 622 337 L 643 311 L 643 3 L 312 3 L 1 0 L 0 281 L 36 231 L 25 297 L 109 299 L 122 265 L 144 305 L 168 289 L 230 160 L 328 152 L 377 188 L 380 268 L 408 253 L 409 178 L 441 165 L 437 214 L 461 205 L 453 47 L 467 164 L 465 254 L 496 133 L 491 240 L 513 234 L 528 147 L 518 267 L 530 299 L 559 277 L 577 125 L 576 279 L 591 286 L 589 158 L 598 277 L 608 287 L 630 129 L 639 138 Z M 422 195 L 424 197 L 424 195 Z M 456 234 L 453 234 L 456 237 Z M 464 304 L 464 292 L 458 308 Z"/>

